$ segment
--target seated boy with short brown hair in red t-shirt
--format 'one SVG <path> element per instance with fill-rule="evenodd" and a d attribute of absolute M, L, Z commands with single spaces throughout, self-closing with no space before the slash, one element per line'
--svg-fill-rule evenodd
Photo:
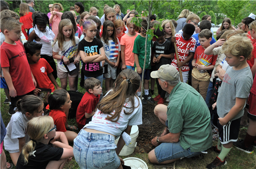
<path fill-rule="evenodd" d="M 101 81 L 94 77 L 85 80 L 84 88 L 86 93 L 83 95 L 76 111 L 76 124 L 80 129 L 92 121 L 95 107 L 97 106 L 100 100 L 100 94 L 102 93 Z"/>

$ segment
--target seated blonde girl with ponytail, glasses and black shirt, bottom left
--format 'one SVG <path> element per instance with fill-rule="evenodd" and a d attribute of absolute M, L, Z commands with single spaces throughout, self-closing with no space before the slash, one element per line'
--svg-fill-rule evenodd
<path fill-rule="evenodd" d="M 35 132 L 36 131 L 36 132 Z M 58 138 L 56 125 L 50 116 L 37 117 L 27 123 L 31 140 L 24 145 L 17 162 L 18 169 L 63 169 L 73 154 L 73 147 L 55 141 Z"/>

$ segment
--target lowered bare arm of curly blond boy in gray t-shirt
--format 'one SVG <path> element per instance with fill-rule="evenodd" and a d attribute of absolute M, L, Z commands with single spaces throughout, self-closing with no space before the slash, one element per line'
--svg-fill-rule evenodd
<path fill-rule="evenodd" d="M 236 97 L 236 104 L 230 109 L 229 113 L 225 117 L 218 119 L 220 124 L 226 125 L 231 119 L 233 119 L 237 115 L 237 113 L 239 113 L 243 109 L 246 99 L 247 98 Z"/>

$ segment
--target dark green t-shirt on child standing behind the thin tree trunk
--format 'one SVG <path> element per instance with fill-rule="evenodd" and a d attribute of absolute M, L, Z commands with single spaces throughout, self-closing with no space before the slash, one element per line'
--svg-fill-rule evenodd
<path fill-rule="evenodd" d="M 143 38 L 143 37 L 141 37 L 141 35 L 138 35 L 135 38 L 134 46 L 133 46 L 133 53 L 136 53 L 138 55 L 139 64 L 140 64 L 141 69 L 143 69 L 143 65 L 144 65 L 145 41 L 146 41 L 146 38 Z M 151 45 L 152 45 L 152 41 L 148 40 L 145 69 L 151 69 Z M 136 67 L 136 64 L 134 64 L 134 66 Z"/>

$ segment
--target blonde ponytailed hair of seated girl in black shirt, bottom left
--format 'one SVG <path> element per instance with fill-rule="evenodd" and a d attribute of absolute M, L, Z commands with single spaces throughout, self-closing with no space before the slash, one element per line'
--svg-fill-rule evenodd
<path fill-rule="evenodd" d="M 27 134 L 31 140 L 22 149 L 25 165 L 28 163 L 29 153 L 34 151 L 36 144 L 40 143 L 53 127 L 54 119 L 51 116 L 34 117 L 27 122 Z"/>

